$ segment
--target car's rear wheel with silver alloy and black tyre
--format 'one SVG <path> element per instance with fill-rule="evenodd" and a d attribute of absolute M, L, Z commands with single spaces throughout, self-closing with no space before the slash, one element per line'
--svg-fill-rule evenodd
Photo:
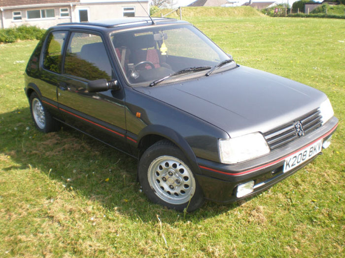
<path fill-rule="evenodd" d="M 29 103 L 31 116 L 34 120 L 36 128 L 39 131 L 49 133 L 58 131 L 60 129 L 60 123 L 53 119 L 52 115 L 42 105 L 41 100 L 35 92 L 30 95 Z"/>

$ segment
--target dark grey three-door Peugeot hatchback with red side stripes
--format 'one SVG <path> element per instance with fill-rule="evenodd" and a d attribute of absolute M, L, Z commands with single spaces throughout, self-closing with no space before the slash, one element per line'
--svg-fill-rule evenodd
<path fill-rule="evenodd" d="M 236 63 L 184 21 L 135 17 L 47 30 L 25 71 L 35 126 L 65 124 L 138 159 L 148 199 L 188 211 L 264 191 L 338 126 L 327 96 Z"/>

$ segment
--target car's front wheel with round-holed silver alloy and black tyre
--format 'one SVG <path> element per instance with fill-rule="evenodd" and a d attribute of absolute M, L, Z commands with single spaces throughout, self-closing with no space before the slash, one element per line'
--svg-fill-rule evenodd
<path fill-rule="evenodd" d="M 169 141 L 150 146 L 141 156 L 138 178 L 154 203 L 191 212 L 204 203 L 204 195 L 183 152 Z M 189 204 L 188 204 L 189 203 Z"/>

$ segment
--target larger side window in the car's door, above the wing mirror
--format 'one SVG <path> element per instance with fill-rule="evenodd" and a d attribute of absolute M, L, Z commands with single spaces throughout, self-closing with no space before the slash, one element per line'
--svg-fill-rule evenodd
<path fill-rule="evenodd" d="M 67 46 L 64 73 L 86 80 L 111 80 L 112 68 L 102 38 L 72 32 Z"/>

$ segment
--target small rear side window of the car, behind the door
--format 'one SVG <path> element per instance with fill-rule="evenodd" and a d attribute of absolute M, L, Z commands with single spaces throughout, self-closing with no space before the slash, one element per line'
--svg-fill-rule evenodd
<path fill-rule="evenodd" d="M 53 31 L 49 34 L 43 55 L 43 67 L 61 73 L 61 57 L 67 31 Z"/>

